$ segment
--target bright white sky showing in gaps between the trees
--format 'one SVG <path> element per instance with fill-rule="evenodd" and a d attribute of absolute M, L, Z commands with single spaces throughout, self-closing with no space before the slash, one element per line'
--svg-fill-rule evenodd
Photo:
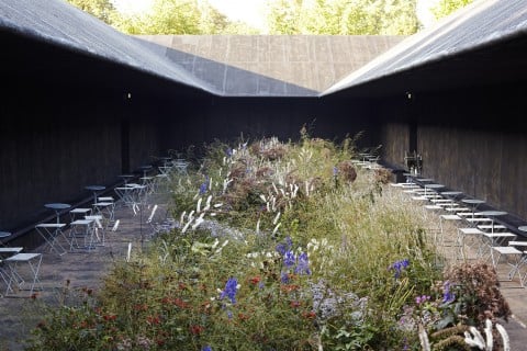
<path fill-rule="evenodd" d="M 132 12 L 147 11 L 153 0 L 113 0 L 119 9 Z M 417 13 L 425 26 L 433 18 L 427 9 L 437 0 L 417 0 Z M 265 30 L 266 0 L 209 0 L 217 10 L 231 20 L 244 21 L 254 27 Z"/>

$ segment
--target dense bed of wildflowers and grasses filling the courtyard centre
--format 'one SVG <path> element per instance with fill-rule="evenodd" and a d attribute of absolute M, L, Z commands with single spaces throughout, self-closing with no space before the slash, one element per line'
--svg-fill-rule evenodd
<path fill-rule="evenodd" d="M 30 349 L 470 350 L 478 330 L 503 347 L 490 268 L 439 265 L 423 211 L 354 159 L 355 140 L 305 132 L 214 143 L 171 177 L 171 230 L 52 309 Z"/>

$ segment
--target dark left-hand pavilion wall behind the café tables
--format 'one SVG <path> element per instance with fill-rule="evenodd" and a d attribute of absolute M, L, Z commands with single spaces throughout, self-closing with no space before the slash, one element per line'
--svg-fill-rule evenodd
<path fill-rule="evenodd" d="M 86 185 L 110 186 L 159 155 L 162 126 L 123 95 L 44 77 L 9 86 L 0 104 L 1 230 L 23 231 L 52 215 L 45 203 L 81 202 Z"/>

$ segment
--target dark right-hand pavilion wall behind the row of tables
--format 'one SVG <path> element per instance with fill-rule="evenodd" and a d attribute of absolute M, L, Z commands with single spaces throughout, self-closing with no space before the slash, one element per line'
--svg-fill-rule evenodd
<path fill-rule="evenodd" d="M 388 99 L 379 110 L 384 157 L 423 155 L 423 174 L 527 218 L 525 84 L 509 83 Z"/>

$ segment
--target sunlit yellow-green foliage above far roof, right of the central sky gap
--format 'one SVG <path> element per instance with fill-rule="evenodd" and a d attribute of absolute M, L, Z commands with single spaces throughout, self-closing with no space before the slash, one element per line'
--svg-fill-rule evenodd
<path fill-rule="evenodd" d="M 417 32 L 416 1 L 271 0 L 271 34 L 410 35 Z"/>

